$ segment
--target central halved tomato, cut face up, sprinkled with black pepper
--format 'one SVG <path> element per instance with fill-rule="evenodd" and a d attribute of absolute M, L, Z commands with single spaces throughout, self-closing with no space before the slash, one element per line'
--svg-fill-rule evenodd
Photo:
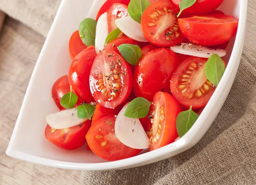
<path fill-rule="evenodd" d="M 122 104 L 132 89 L 128 63 L 112 50 L 100 52 L 90 71 L 90 91 L 103 107 L 113 109 Z"/>

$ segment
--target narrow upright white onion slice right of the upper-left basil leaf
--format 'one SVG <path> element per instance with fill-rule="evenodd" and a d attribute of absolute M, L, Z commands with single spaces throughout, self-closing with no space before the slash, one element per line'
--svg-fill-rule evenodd
<path fill-rule="evenodd" d="M 95 49 L 99 53 L 104 48 L 106 38 L 108 37 L 108 19 L 107 12 L 99 17 L 96 26 Z"/>

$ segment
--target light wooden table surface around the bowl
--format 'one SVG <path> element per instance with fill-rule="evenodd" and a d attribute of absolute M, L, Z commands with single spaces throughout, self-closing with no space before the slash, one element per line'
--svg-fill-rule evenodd
<path fill-rule="evenodd" d="M 256 0 L 249 0 L 244 50 L 256 58 Z M 6 18 L 0 33 L 0 185 L 78 185 L 80 171 L 50 168 L 6 156 L 6 148 L 45 38 Z"/>

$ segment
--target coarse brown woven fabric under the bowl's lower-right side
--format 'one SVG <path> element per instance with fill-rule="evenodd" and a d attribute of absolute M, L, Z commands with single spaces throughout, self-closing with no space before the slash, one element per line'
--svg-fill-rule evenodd
<path fill-rule="evenodd" d="M 256 59 L 243 52 L 220 113 L 197 145 L 138 168 L 83 171 L 82 185 L 255 185 Z"/>

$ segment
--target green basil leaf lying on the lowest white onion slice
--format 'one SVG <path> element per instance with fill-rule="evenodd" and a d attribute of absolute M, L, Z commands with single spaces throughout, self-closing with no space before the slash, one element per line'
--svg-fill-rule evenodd
<path fill-rule="evenodd" d="M 124 116 L 128 118 L 144 118 L 148 115 L 152 103 L 145 98 L 135 98 L 125 110 Z"/>

